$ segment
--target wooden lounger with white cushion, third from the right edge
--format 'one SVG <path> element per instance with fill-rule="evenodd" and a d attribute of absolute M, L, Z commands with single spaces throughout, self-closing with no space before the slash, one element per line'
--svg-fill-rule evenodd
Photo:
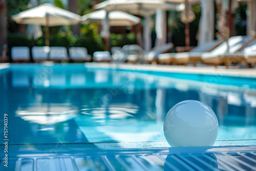
<path fill-rule="evenodd" d="M 197 46 L 189 52 L 181 53 L 163 53 L 158 56 L 160 63 L 165 63 L 169 65 L 170 63 L 176 64 L 187 64 L 188 62 L 193 62 L 194 64 L 201 61 L 201 54 L 203 52 L 209 52 L 221 44 L 219 40 L 212 40 L 207 42 L 202 46 Z"/>

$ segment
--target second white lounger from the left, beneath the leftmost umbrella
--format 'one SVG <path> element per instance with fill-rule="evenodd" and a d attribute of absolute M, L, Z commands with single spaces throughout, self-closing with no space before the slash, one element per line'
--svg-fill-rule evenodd
<path fill-rule="evenodd" d="M 32 57 L 34 62 L 41 62 L 48 59 L 50 47 L 48 46 L 34 46 L 32 48 Z"/>

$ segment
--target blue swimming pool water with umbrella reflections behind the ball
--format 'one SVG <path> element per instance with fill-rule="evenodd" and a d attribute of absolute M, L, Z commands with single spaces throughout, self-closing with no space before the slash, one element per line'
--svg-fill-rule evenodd
<path fill-rule="evenodd" d="M 192 99 L 216 113 L 217 140 L 256 139 L 255 80 L 12 65 L 0 70 L 0 116 L 9 117 L 9 144 L 165 141 L 168 110 Z"/>

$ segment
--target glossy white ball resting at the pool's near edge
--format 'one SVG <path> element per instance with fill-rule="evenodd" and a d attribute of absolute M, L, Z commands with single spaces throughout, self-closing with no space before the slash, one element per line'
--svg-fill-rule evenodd
<path fill-rule="evenodd" d="M 218 130 L 218 119 L 214 111 L 196 100 L 185 100 L 173 106 L 163 126 L 164 136 L 172 147 L 212 146 Z"/>

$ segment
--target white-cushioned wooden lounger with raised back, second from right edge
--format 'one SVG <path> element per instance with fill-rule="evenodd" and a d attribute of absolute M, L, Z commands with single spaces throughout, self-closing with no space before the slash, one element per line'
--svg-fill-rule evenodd
<path fill-rule="evenodd" d="M 239 52 L 245 45 L 248 45 L 253 39 L 253 36 L 233 36 L 228 39 L 227 42 L 223 42 L 220 46 L 212 50 L 211 52 L 202 53 L 201 58 L 206 64 L 213 64 L 215 66 L 225 64 L 226 67 L 232 61 L 243 61 L 244 57 Z"/>

